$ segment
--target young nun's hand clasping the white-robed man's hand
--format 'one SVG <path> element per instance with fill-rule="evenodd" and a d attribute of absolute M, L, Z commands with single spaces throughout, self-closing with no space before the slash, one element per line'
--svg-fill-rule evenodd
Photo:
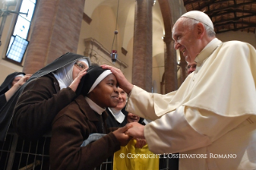
<path fill-rule="evenodd" d="M 114 136 L 116 136 L 116 139 L 120 141 L 121 146 L 127 145 L 128 142 L 132 139 L 131 136 L 125 134 L 125 132 L 127 132 L 127 130 L 131 127 L 131 124 L 126 124 L 124 127 L 120 127 L 113 132 Z"/>

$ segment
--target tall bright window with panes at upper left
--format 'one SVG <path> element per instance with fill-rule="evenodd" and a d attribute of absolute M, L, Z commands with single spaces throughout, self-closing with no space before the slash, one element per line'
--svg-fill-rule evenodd
<path fill-rule="evenodd" d="M 10 38 L 6 59 L 22 63 L 23 56 L 28 46 L 27 36 L 31 20 L 34 15 L 36 0 L 22 0 L 14 32 Z M 27 14 L 24 14 L 27 13 Z"/>

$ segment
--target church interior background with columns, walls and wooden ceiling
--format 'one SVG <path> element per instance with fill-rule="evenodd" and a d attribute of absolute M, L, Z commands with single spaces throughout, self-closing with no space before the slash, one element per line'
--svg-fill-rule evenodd
<path fill-rule="evenodd" d="M 254 0 L 1 0 L 0 9 L 0 82 L 14 71 L 34 74 L 72 52 L 119 68 L 146 91 L 175 91 L 187 76 L 187 63 L 173 47 L 172 27 L 190 10 L 208 14 L 222 42 L 256 47 Z M 17 136 L 9 140 L 22 143 Z"/>

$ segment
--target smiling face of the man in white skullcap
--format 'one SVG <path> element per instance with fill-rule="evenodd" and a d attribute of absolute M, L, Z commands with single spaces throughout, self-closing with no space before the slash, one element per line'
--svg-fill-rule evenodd
<path fill-rule="evenodd" d="M 194 26 L 192 30 L 189 30 L 188 26 L 185 26 L 182 22 L 183 18 L 180 18 L 173 28 L 173 40 L 174 48 L 181 51 L 185 60 L 189 63 L 193 63 L 198 51 L 197 42 L 197 26 Z"/>

